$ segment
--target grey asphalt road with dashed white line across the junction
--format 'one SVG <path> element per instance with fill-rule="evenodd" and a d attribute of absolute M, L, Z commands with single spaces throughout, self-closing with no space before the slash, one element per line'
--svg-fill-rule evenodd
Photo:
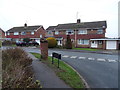
<path fill-rule="evenodd" d="M 27 52 L 40 53 L 36 48 L 23 48 Z M 118 55 L 49 50 L 62 55 L 91 88 L 118 88 Z"/>

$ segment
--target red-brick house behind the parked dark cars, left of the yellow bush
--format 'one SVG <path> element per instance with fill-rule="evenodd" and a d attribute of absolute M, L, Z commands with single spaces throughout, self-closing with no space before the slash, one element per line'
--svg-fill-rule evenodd
<path fill-rule="evenodd" d="M 22 27 L 13 27 L 6 32 L 6 38 L 11 38 L 14 41 L 30 38 L 40 43 L 40 38 L 45 37 L 45 29 L 42 25 L 27 26 L 25 23 Z"/>

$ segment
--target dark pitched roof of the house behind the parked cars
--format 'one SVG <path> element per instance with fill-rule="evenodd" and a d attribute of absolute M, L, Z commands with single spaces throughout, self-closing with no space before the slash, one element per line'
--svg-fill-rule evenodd
<path fill-rule="evenodd" d="M 42 27 L 42 25 L 37 26 L 27 26 L 27 27 L 13 27 L 9 29 L 7 32 L 21 32 L 21 31 L 34 31 L 37 30 L 39 27 Z"/>

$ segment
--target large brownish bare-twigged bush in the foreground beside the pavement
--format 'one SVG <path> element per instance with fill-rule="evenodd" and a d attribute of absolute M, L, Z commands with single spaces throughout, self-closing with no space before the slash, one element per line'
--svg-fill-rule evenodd
<path fill-rule="evenodd" d="M 33 82 L 32 59 L 19 48 L 2 51 L 2 87 L 3 88 L 38 88 Z"/>

